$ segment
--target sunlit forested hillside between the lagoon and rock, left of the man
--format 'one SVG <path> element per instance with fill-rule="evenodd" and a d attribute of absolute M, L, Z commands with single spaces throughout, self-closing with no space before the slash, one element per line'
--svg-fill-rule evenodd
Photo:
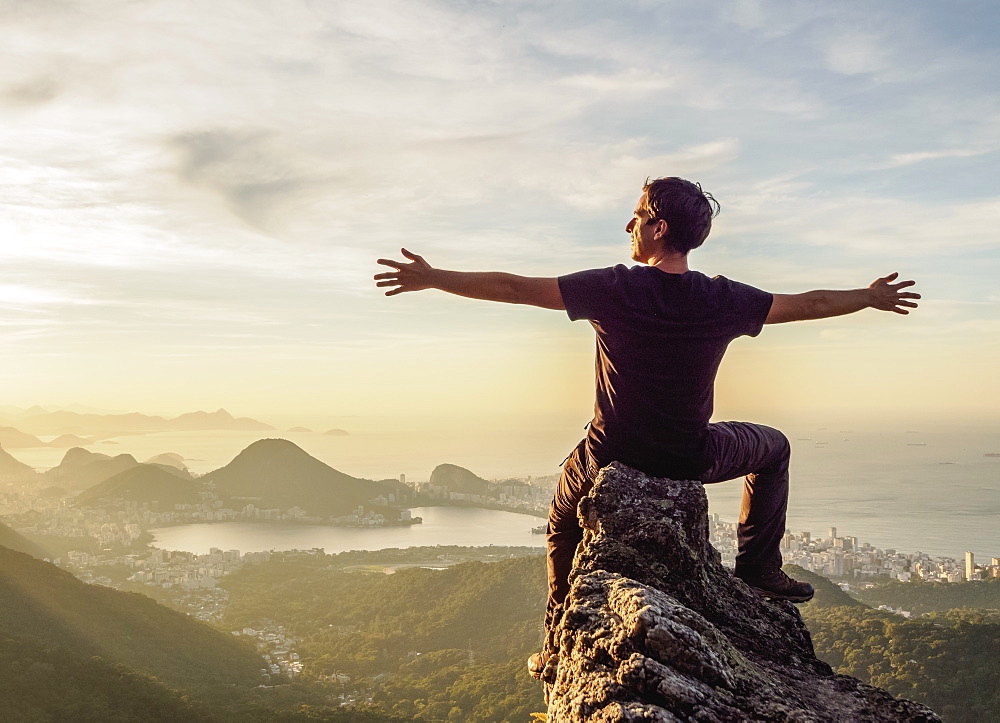
<path fill-rule="evenodd" d="M 223 626 L 265 618 L 284 625 L 302 640 L 310 676 L 377 680 L 376 707 L 394 715 L 521 721 L 544 710 L 541 686 L 525 668 L 541 645 L 543 557 L 392 575 L 335 565 L 274 562 L 225 578 Z"/>

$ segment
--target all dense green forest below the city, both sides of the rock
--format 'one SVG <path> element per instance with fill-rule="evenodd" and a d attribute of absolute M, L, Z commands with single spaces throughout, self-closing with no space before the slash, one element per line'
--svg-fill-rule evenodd
<path fill-rule="evenodd" d="M 527 548 L 277 554 L 220 580 L 229 599 L 215 630 L 27 555 L 0 549 L 0 563 L 0 697 L 27 720 L 485 722 L 544 710 L 525 659 L 541 642 L 545 563 Z M 862 602 L 788 571 L 817 589 L 799 609 L 838 672 L 949 722 L 1000 710 L 996 581 L 889 583 L 856 593 Z M 907 620 L 866 602 L 935 612 Z M 300 677 L 250 683 L 260 658 L 231 633 L 262 625 L 298 641 Z"/>

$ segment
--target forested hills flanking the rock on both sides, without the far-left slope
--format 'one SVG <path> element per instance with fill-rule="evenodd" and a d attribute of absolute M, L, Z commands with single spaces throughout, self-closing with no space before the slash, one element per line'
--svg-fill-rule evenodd
<path fill-rule="evenodd" d="M 544 710 L 541 687 L 525 674 L 540 642 L 544 558 L 386 575 L 381 565 L 417 559 L 390 552 L 286 558 L 236 573 L 221 582 L 231 595 L 221 625 L 266 618 L 286 626 L 301 640 L 311 678 L 345 675 L 348 687 L 374 691 L 372 706 L 360 710 L 469 723 L 524 721 Z M 425 556 L 428 565 L 437 557 Z M 821 576 L 786 569 L 816 586 L 800 610 L 817 654 L 840 672 L 926 703 L 948 721 L 979 723 L 1000 710 L 1000 614 L 907 621 Z"/>

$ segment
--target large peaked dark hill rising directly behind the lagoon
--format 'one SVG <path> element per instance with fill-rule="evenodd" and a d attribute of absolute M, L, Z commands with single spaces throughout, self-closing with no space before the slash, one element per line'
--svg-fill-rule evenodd
<path fill-rule="evenodd" d="M 203 478 L 220 497 L 259 508 L 301 507 L 311 515 L 347 515 L 388 491 L 383 485 L 339 472 L 286 439 L 262 439 Z M 233 499 L 235 498 L 235 499 Z M 382 510 L 398 516 L 393 510 Z"/>

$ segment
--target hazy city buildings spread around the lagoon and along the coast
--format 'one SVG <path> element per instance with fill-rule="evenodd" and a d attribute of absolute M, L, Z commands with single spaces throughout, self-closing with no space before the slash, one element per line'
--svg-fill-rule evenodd
<path fill-rule="evenodd" d="M 406 483 L 405 477 L 401 482 Z M 484 481 L 485 482 L 485 481 Z M 449 487 L 447 483 L 410 483 L 415 505 L 459 505 L 527 513 L 544 517 L 552 495 L 554 477 L 507 479 L 489 482 L 478 492 L 467 491 L 468 485 Z M 65 497 L 52 497 L 45 489 L 34 486 L 8 486 L 0 492 L 0 516 L 21 533 L 42 539 L 60 540 L 64 549 L 54 558 L 57 564 L 72 570 L 88 582 L 115 585 L 128 582 L 183 589 L 208 589 L 225 575 L 245 565 L 269 559 L 269 551 L 241 552 L 213 549 L 198 555 L 183 551 L 162 550 L 150 546 L 148 530 L 171 525 L 208 521 L 273 521 L 295 523 L 325 523 L 351 526 L 386 524 L 384 515 L 363 506 L 353 515 L 320 520 L 305 514 L 300 507 L 289 509 L 258 509 L 246 504 L 241 509 L 223 506 L 211 488 L 204 485 L 203 500 L 198 505 L 178 504 L 171 510 L 153 509 L 156 505 L 118 500 L 100 506 L 75 506 Z M 394 500 L 393 500 L 394 501 Z M 374 500 L 374 505 L 391 504 L 390 500 Z M 402 509 L 401 521 L 419 522 Z M 398 522 L 396 524 L 399 524 Z M 535 531 L 541 532 L 544 526 Z M 710 535 L 724 564 L 732 566 L 736 556 L 736 524 L 712 514 Z M 79 544 L 73 547 L 72 541 Z M 539 536 L 538 546 L 544 545 Z M 829 528 L 827 534 L 809 531 L 786 532 L 781 551 L 785 563 L 799 565 L 826 577 L 851 582 L 894 579 L 903 582 L 962 582 L 1000 577 L 1000 558 L 988 564 L 977 563 L 973 553 L 964 559 L 932 556 L 923 552 L 903 552 L 881 549 L 859 541 L 851 535 L 839 535 Z M 127 571 L 113 579 L 102 570 L 118 568 Z"/>

